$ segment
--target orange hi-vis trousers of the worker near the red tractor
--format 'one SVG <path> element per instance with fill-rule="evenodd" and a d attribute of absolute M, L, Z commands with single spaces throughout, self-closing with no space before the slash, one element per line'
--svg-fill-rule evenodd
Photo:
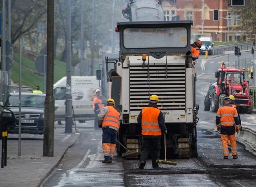
<path fill-rule="evenodd" d="M 224 156 L 228 156 L 228 141 L 230 141 L 230 146 L 231 146 L 231 151 L 232 151 L 232 156 L 237 155 L 237 147 L 236 147 L 236 141 L 235 141 L 235 133 L 233 135 L 225 135 L 221 134 L 221 140 L 222 140 L 222 150 Z"/>

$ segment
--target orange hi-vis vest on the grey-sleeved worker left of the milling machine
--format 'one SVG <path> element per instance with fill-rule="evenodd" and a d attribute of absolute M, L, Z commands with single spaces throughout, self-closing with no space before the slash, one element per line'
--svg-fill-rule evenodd
<path fill-rule="evenodd" d="M 113 106 L 106 106 L 108 108 L 108 112 L 105 115 L 102 123 L 102 128 L 109 126 L 111 128 L 115 127 L 117 128 L 117 131 L 120 128 L 120 117 L 119 112 L 114 109 Z"/>

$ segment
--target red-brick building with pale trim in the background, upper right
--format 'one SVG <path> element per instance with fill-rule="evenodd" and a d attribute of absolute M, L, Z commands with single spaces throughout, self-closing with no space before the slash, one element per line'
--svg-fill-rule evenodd
<path fill-rule="evenodd" d="M 192 34 L 212 36 L 214 41 L 246 40 L 241 30 L 235 30 L 240 16 L 237 8 L 228 6 L 229 0 L 162 0 L 164 20 L 192 20 Z M 213 11 L 219 11 L 219 20 L 213 20 Z M 203 16 L 202 16 L 203 15 Z"/>

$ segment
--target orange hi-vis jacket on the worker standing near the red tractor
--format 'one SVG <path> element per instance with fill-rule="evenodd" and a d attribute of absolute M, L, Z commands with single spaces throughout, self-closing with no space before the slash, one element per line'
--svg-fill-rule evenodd
<path fill-rule="evenodd" d="M 223 105 L 218 109 L 217 116 L 220 117 L 221 126 L 234 126 L 234 117 L 238 117 L 238 113 L 236 108 L 231 104 L 230 106 Z M 238 127 L 238 129 L 240 128 L 239 124 L 235 124 L 235 126 Z"/>

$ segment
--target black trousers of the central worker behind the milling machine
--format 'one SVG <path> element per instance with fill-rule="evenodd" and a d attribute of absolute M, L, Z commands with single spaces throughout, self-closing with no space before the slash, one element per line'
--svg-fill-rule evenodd
<path fill-rule="evenodd" d="M 158 138 L 144 138 L 143 137 L 143 143 L 141 147 L 141 163 L 144 163 L 146 165 L 146 161 L 148 159 L 149 153 L 151 153 L 152 158 L 152 168 L 158 167 L 157 160 L 160 157 L 160 137 Z"/>

